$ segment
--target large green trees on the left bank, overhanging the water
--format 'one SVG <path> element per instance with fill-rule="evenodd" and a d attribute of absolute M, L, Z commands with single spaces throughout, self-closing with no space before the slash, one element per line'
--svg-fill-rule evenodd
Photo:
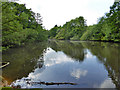
<path fill-rule="evenodd" d="M 26 42 L 47 40 L 39 13 L 25 4 L 2 2 L 2 48 L 23 45 Z M 1 13 L 1 12 L 0 12 Z"/>

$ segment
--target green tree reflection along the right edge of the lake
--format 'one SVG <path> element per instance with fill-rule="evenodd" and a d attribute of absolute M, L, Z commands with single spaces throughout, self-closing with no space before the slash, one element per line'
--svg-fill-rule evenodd
<path fill-rule="evenodd" d="M 88 42 L 83 45 L 99 58 L 108 71 L 109 78 L 112 79 L 116 88 L 120 88 L 120 44 Z"/>

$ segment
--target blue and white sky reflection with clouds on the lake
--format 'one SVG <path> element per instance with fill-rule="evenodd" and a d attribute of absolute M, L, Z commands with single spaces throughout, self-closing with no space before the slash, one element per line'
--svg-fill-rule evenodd
<path fill-rule="evenodd" d="M 84 60 L 79 62 L 63 51 L 48 47 L 43 55 L 42 68 L 35 68 L 28 77 L 14 82 L 22 88 L 115 88 L 103 63 L 90 50 L 84 49 Z M 27 84 L 24 79 L 39 82 L 73 82 L 77 85 L 39 85 Z"/>

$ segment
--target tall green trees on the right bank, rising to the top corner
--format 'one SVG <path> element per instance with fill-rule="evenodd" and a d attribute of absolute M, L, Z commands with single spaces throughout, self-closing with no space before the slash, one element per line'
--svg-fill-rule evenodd
<path fill-rule="evenodd" d="M 115 2 L 98 24 L 89 26 L 81 40 L 120 42 L 120 2 Z"/>

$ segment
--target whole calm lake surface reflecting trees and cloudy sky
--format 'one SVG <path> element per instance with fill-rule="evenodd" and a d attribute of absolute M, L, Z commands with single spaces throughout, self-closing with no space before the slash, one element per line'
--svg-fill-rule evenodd
<path fill-rule="evenodd" d="M 119 88 L 120 44 L 49 41 L 3 52 L 2 76 L 22 88 Z M 72 82 L 43 85 L 29 82 Z"/>

